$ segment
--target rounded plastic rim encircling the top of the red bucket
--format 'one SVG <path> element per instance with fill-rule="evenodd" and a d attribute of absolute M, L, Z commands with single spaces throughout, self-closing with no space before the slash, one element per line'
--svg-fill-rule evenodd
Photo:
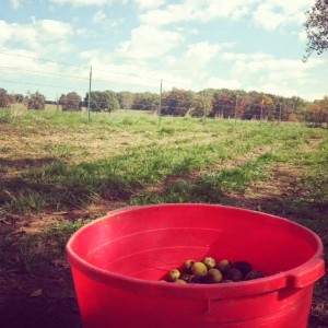
<path fill-rule="evenodd" d="M 250 213 L 258 213 L 258 214 L 266 214 L 272 219 L 276 220 L 281 220 L 283 222 L 286 222 L 289 224 L 295 225 L 298 229 L 305 230 L 316 242 L 317 245 L 317 250 L 313 255 L 312 258 L 309 258 L 305 263 L 302 263 L 301 266 L 294 267 L 290 270 L 285 270 L 282 272 L 278 272 L 276 274 L 270 274 L 265 278 L 256 279 L 256 280 L 250 280 L 250 281 L 242 281 L 242 282 L 234 282 L 234 283 L 220 283 L 220 284 L 174 284 L 174 283 L 163 283 L 161 281 L 152 281 L 152 280 L 144 280 L 144 279 L 139 279 L 134 277 L 129 277 L 125 276 L 121 273 L 117 273 L 114 271 L 108 271 L 101 269 L 94 265 L 91 265 L 87 262 L 85 259 L 81 258 L 75 254 L 75 251 L 72 249 L 71 245 L 74 242 L 74 239 L 89 226 L 97 224 L 102 221 L 108 220 L 109 216 L 113 216 L 118 213 L 126 213 L 126 212 L 131 212 L 136 209 L 147 209 L 147 208 L 156 208 L 156 207 L 190 207 L 190 206 L 201 206 L 201 207 L 220 207 L 220 208 L 225 208 L 225 209 L 233 209 L 233 210 L 242 210 L 245 212 L 250 212 Z M 188 293 L 186 293 L 188 290 L 190 292 L 190 296 L 195 297 L 195 293 L 198 291 L 199 296 L 203 297 L 204 294 L 210 296 L 210 298 L 221 298 L 223 295 L 226 294 L 232 294 L 232 296 L 244 296 L 244 295 L 250 295 L 250 294 L 259 294 L 259 293 L 265 293 L 265 292 L 270 292 L 273 290 L 279 290 L 282 288 L 288 286 L 289 280 L 295 278 L 295 272 L 296 271 L 302 271 L 302 268 L 308 267 L 309 262 L 316 262 L 320 267 L 324 266 L 324 260 L 323 260 L 323 250 L 324 246 L 321 243 L 321 239 L 317 236 L 316 233 L 311 231 L 309 229 L 295 223 L 293 221 L 290 221 L 288 219 L 259 212 L 259 211 L 254 211 L 254 210 L 248 210 L 248 209 L 243 209 L 243 208 L 236 208 L 236 207 L 227 207 L 227 206 L 221 206 L 221 204 L 206 204 L 206 203 L 163 203 L 163 204 L 151 204 L 151 206 L 133 206 L 133 207 L 126 207 L 121 209 L 117 209 L 114 211 L 109 211 L 106 213 L 105 216 L 102 216 L 99 219 L 96 219 L 81 229 L 79 229 L 68 241 L 66 245 L 66 250 L 67 250 L 67 256 L 70 262 L 71 267 L 75 267 L 80 271 L 82 271 L 84 274 L 90 277 L 91 279 L 95 279 L 96 281 L 99 282 L 117 282 L 120 288 L 127 288 L 131 289 L 131 286 L 138 289 L 142 292 L 147 292 L 147 290 L 152 286 L 152 285 L 157 285 L 159 290 L 157 291 L 163 291 L 163 292 L 169 292 L 169 293 L 175 293 L 176 295 L 180 294 L 180 289 L 185 289 L 184 296 L 187 296 Z M 323 274 L 324 276 L 324 272 Z M 319 277 L 320 278 L 320 277 Z M 315 281 L 319 278 L 316 278 Z M 263 284 L 267 283 L 267 288 L 263 289 Z M 314 281 L 308 282 L 307 284 L 312 284 Z M 237 289 L 238 286 L 243 285 L 243 289 Z M 236 289 L 239 290 L 237 295 L 236 295 Z M 153 289 L 150 289 L 153 291 Z M 224 292 L 224 293 L 223 293 Z"/>

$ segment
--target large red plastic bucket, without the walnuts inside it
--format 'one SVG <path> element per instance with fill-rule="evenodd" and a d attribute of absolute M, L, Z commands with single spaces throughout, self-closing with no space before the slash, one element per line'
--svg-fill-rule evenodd
<path fill-rule="evenodd" d="M 307 326 L 324 276 L 323 244 L 289 220 L 211 204 L 131 207 L 80 229 L 67 244 L 83 327 Z M 247 260 L 265 278 L 163 283 L 186 259 Z"/>

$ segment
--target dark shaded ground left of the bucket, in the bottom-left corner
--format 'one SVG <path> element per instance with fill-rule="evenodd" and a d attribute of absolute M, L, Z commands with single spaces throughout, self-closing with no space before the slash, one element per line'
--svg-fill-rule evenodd
<path fill-rule="evenodd" d="M 65 246 L 85 222 L 46 233 L 0 235 L 1 327 L 81 327 Z"/>

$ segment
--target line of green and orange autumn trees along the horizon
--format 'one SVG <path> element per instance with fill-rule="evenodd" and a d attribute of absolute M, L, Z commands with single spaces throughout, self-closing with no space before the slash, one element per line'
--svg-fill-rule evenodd
<path fill-rule="evenodd" d="M 173 87 L 161 95 L 151 92 L 92 91 L 82 98 L 77 92 L 62 94 L 50 102 L 39 92 L 9 94 L 0 89 L 0 107 L 22 103 L 30 109 L 44 109 L 46 104 L 56 104 L 63 112 L 87 108 L 92 112 L 112 113 L 117 109 L 157 112 L 159 115 L 221 117 L 235 119 L 311 121 L 328 125 L 328 97 L 306 102 L 293 96 L 284 97 L 243 90 L 206 89 L 199 92 Z"/>

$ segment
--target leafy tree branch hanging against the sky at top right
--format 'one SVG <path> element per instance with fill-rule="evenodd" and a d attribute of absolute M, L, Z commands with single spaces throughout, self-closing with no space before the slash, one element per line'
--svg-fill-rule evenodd
<path fill-rule="evenodd" d="M 320 55 L 328 49 L 328 0 L 316 0 L 306 15 L 304 26 L 307 34 L 307 47 L 304 61 L 307 61 L 313 51 Z"/>

